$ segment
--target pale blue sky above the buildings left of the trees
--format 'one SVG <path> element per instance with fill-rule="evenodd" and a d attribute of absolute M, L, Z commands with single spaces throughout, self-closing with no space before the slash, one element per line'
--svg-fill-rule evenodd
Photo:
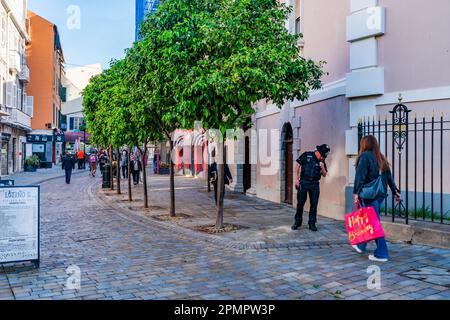
<path fill-rule="evenodd" d="M 134 41 L 134 0 L 28 0 L 28 9 L 57 25 L 67 69 L 106 69 Z"/>

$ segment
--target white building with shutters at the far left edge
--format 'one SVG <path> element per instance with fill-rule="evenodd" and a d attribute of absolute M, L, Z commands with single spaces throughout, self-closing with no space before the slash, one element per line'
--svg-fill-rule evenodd
<path fill-rule="evenodd" d="M 26 136 L 31 131 L 26 10 L 25 0 L 2 0 L 0 4 L 0 176 L 24 169 Z"/>

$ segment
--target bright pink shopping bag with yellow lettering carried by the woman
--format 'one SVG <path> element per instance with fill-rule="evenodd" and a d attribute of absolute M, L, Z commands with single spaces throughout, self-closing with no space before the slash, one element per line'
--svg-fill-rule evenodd
<path fill-rule="evenodd" d="M 384 237 L 384 230 L 373 207 L 359 208 L 345 216 L 348 240 L 356 245 Z"/>

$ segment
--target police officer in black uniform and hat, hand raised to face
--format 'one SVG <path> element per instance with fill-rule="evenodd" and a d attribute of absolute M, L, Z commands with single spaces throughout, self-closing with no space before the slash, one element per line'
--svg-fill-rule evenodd
<path fill-rule="evenodd" d="M 295 188 L 297 189 L 297 212 L 292 230 L 297 230 L 303 223 L 303 211 L 306 199 L 309 196 L 309 230 L 317 231 L 317 206 L 319 204 L 320 186 L 319 181 L 328 173 L 325 159 L 331 149 L 323 144 L 316 147 L 316 151 L 304 152 L 297 159 L 295 169 Z M 301 169 L 301 170 L 300 170 Z"/>

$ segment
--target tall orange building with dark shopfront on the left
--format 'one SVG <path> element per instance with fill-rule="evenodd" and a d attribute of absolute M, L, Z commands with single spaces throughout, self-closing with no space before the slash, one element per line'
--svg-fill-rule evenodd
<path fill-rule="evenodd" d="M 35 104 L 27 153 L 38 155 L 43 167 L 51 167 L 59 162 L 64 143 L 60 130 L 61 106 L 66 98 L 62 85 L 64 55 L 55 24 L 31 11 L 27 20 L 30 41 L 26 51 L 31 71 L 28 90 Z"/>

